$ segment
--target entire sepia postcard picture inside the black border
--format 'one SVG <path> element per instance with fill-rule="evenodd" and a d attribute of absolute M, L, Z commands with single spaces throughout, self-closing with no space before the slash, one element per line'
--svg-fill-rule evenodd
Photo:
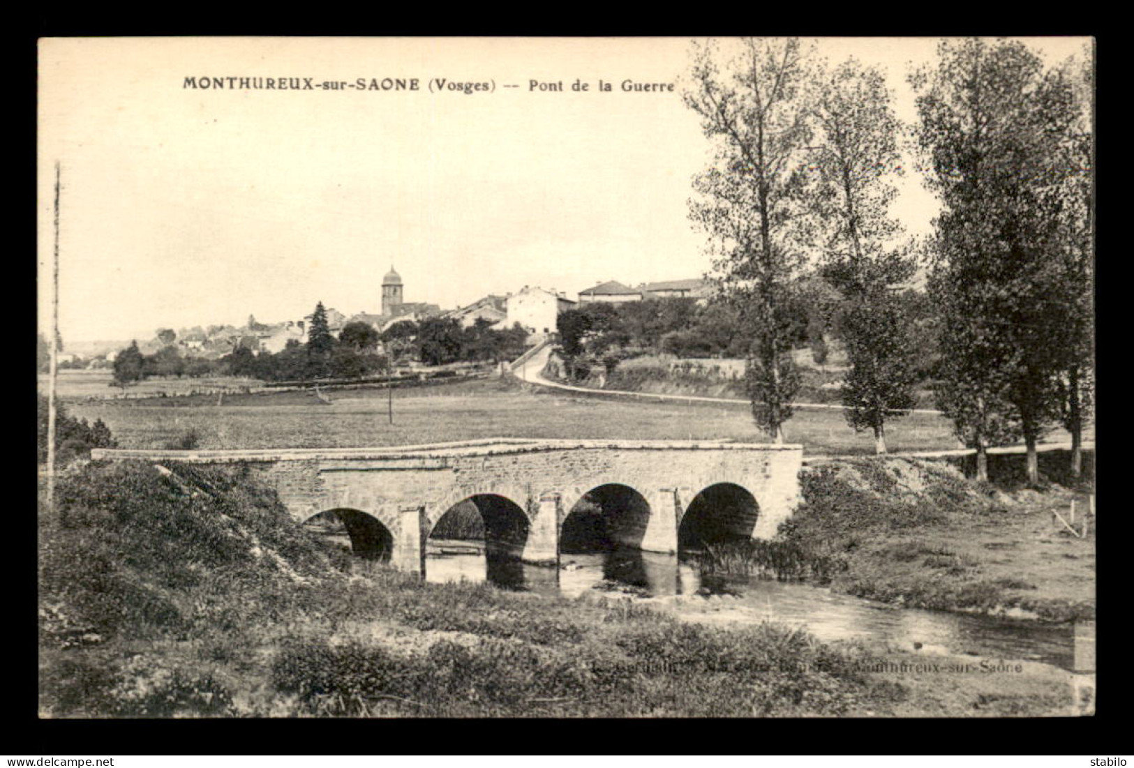
<path fill-rule="evenodd" d="M 1092 37 L 36 70 L 39 718 L 1095 714 Z"/>

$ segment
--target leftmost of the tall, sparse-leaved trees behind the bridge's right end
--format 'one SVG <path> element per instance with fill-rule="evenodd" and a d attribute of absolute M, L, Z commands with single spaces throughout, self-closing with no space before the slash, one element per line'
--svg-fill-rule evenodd
<path fill-rule="evenodd" d="M 710 43 L 694 56 L 684 100 L 716 159 L 694 181 L 691 217 L 709 234 L 714 268 L 751 328 L 753 416 L 782 442 L 799 387 L 786 309 L 809 234 L 802 214 L 810 72 L 795 39 L 746 39 L 731 58 Z"/>

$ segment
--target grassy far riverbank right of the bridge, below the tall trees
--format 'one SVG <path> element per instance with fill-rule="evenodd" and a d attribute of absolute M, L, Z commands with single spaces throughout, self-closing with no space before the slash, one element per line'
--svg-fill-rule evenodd
<path fill-rule="evenodd" d="M 1093 454 L 1086 454 L 1088 470 Z M 898 606 L 1049 622 L 1094 618 L 1093 485 L 1022 487 L 1023 456 L 992 458 L 992 483 L 943 461 L 864 458 L 801 475 L 804 503 L 782 544 L 821 564 L 820 583 Z M 1068 481 L 1066 452 L 1041 468 Z M 1017 466 L 1018 464 L 1018 466 Z M 1053 513 L 1069 519 L 1076 536 Z"/>

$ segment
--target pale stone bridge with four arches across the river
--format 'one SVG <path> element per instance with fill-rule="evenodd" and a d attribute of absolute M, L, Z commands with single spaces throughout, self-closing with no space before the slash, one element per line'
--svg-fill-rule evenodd
<path fill-rule="evenodd" d="M 585 500 L 631 500 L 609 506 L 634 507 L 634 521 L 623 529 L 626 543 L 644 551 L 677 552 L 694 514 L 706 530 L 723 526 L 734 537 L 770 538 L 798 502 L 803 449 L 499 438 L 373 449 L 95 449 L 92 458 L 243 463 L 276 488 L 297 521 L 329 511 L 369 515 L 380 523 L 392 564 L 424 573 L 426 538 L 467 500 L 484 518 L 486 546 L 494 539 L 498 549 L 526 562 L 558 561 L 565 521 Z M 748 513 L 730 511 L 737 498 Z"/>

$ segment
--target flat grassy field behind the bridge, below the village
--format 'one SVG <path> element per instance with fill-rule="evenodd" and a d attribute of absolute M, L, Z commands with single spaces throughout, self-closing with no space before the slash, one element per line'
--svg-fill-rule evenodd
<path fill-rule="evenodd" d="M 101 418 L 121 447 L 162 447 L 195 430 L 201 449 L 356 447 L 482 437 L 735 440 L 767 442 L 743 406 L 632 402 L 525 389 L 502 379 L 443 384 L 393 394 L 393 424 L 380 389 L 333 394 L 330 406 L 302 392 L 73 402 Z M 786 426 L 810 454 L 870 453 L 840 411 L 801 410 Z M 889 430 L 891 451 L 954 449 L 949 424 L 912 415 Z"/>

